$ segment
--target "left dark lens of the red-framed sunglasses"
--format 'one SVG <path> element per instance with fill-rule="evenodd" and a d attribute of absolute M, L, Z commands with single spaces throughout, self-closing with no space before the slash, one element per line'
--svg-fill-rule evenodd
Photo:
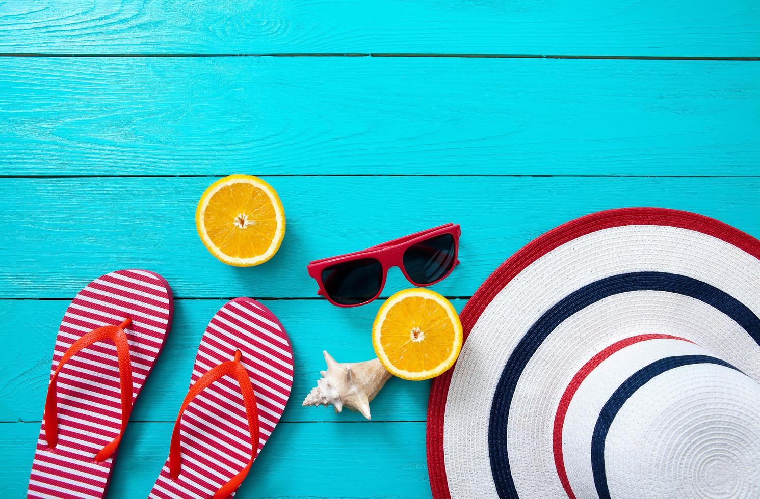
<path fill-rule="evenodd" d="M 359 305 L 380 292 L 382 264 L 375 258 L 335 264 L 322 270 L 322 284 L 333 302 Z"/>

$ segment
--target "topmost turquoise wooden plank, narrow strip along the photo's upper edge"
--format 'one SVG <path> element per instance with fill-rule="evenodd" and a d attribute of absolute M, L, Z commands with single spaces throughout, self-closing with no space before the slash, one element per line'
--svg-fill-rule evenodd
<path fill-rule="evenodd" d="M 0 26 L 15 53 L 760 55 L 752 0 L 11 0 Z"/>

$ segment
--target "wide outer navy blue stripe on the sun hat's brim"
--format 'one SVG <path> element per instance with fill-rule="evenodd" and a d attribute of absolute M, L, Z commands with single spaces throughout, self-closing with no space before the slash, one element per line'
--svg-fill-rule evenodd
<path fill-rule="evenodd" d="M 562 321 L 611 295 L 632 291 L 664 291 L 705 302 L 726 314 L 760 344 L 760 318 L 726 292 L 692 277 L 664 272 L 633 272 L 587 284 L 549 308 L 522 337 L 506 363 L 493 395 L 488 445 L 491 473 L 499 497 L 518 497 L 507 452 L 509 407 L 525 366 L 546 337 Z"/>

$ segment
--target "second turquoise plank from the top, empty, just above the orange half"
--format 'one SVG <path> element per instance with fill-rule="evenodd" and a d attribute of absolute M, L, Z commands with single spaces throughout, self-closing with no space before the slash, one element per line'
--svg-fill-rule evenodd
<path fill-rule="evenodd" d="M 34 57 L 0 71 L 4 175 L 758 175 L 758 160 L 760 62 Z"/>

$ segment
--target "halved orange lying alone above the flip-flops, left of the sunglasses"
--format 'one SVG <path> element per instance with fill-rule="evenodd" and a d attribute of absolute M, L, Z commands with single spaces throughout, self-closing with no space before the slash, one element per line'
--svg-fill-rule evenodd
<path fill-rule="evenodd" d="M 236 267 L 252 267 L 280 248 L 285 210 L 277 192 L 261 178 L 230 175 L 203 193 L 195 227 L 215 257 Z"/>

